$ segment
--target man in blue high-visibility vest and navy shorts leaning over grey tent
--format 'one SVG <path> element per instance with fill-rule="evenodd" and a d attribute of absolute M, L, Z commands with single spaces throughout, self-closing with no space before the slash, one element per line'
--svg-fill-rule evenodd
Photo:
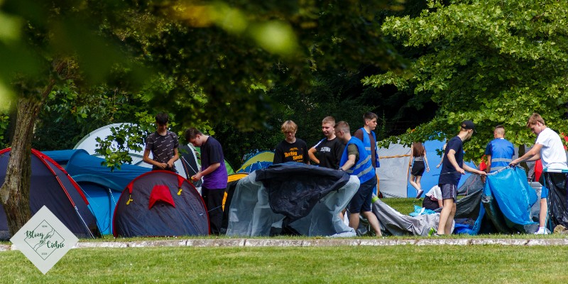
<path fill-rule="evenodd" d="M 378 219 L 371 211 L 371 198 L 373 197 L 373 187 L 377 184 L 375 168 L 371 163 L 371 155 L 365 150 L 361 140 L 351 136 L 349 124 L 339 121 L 335 124 L 335 135 L 340 141 L 346 144 L 342 159 L 339 162 L 339 170 L 344 170 L 349 175 L 359 178 L 361 185 L 351 201 L 347 205 L 349 210 L 349 226 L 355 231 L 359 227 L 359 215 L 363 214 L 368 219 L 377 236 L 382 236 Z"/>

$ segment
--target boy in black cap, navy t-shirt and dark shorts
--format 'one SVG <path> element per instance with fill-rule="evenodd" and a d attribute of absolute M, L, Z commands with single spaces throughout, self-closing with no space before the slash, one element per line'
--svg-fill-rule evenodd
<path fill-rule="evenodd" d="M 475 125 L 471 120 L 461 123 L 461 129 L 457 136 L 449 139 L 442 161 L 442 170 L 439 174 L 438 186 L 442 190 L 444 208 L 439 214 L 437 235 L 452 234 L 452 224 L 456 214 L 457 185 L 461 175 L 466 171 L 479 175 L 486 175 L 481 170 L 476 170 L 464 164 L 464 141 L 474 134 Z"/>

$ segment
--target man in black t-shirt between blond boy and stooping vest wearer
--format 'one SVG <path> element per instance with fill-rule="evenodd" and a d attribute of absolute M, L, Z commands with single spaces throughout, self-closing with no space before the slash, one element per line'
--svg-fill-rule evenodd
<path fill-rule="evenodd" d="M 332 116 L 327 116 L 323 119 L 322 132 L 325 138 L 310 148 L 307 154 L 310 155 L 310 160 L 320 164 L 320 167 L 337 170 L 339 169 L 339 161 L 342 159 L 345 145 L 335 136 L 334 126 L 335 119 Z M 316 153 L 319 159 L 316 157 Z"/>

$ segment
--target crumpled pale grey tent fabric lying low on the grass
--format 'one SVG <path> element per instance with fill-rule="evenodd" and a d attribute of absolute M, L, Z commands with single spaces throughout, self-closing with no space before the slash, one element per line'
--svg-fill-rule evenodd
<path fill-rule="evenodd" d="M 400 214 L 381 200 L 373 202 L 371 209 L 381 225 L 383 234 L 393 236 L 427 236 L 430 228 L 437 229 L 439 223 L 439 213 L 411 217 Z M 452 224 L 452 231 L 453 226 Z"/>

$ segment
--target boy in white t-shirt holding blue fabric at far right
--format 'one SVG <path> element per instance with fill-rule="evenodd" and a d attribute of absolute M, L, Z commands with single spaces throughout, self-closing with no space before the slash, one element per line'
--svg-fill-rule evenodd
<path fill-rule="evenodd" d="M 568 170 L 566 162 L 566 153 L 564 146 L 558 133 L 549 129 L 545 125 L 545 120 L 542 119 L 540 114 L 534 113 L 527 122 L 528 128 L 532 133 L 537 135 L 535 146 L 530 149 L 525 155 L 510 162 L 511 166 L 518 165 L 523 161 L 533 161 L 540 159 L 542 161 L 542 168 L 549 168 L 555 170 Z M 544 185 L 544 183 L 542 183 Z M 545 229 L 546 217 L 548 212 L 548 189 L 543 186 L 540 192 L 540 213 L 539 213 L 539 228 L 535 234 L 547 234 Z"/>

